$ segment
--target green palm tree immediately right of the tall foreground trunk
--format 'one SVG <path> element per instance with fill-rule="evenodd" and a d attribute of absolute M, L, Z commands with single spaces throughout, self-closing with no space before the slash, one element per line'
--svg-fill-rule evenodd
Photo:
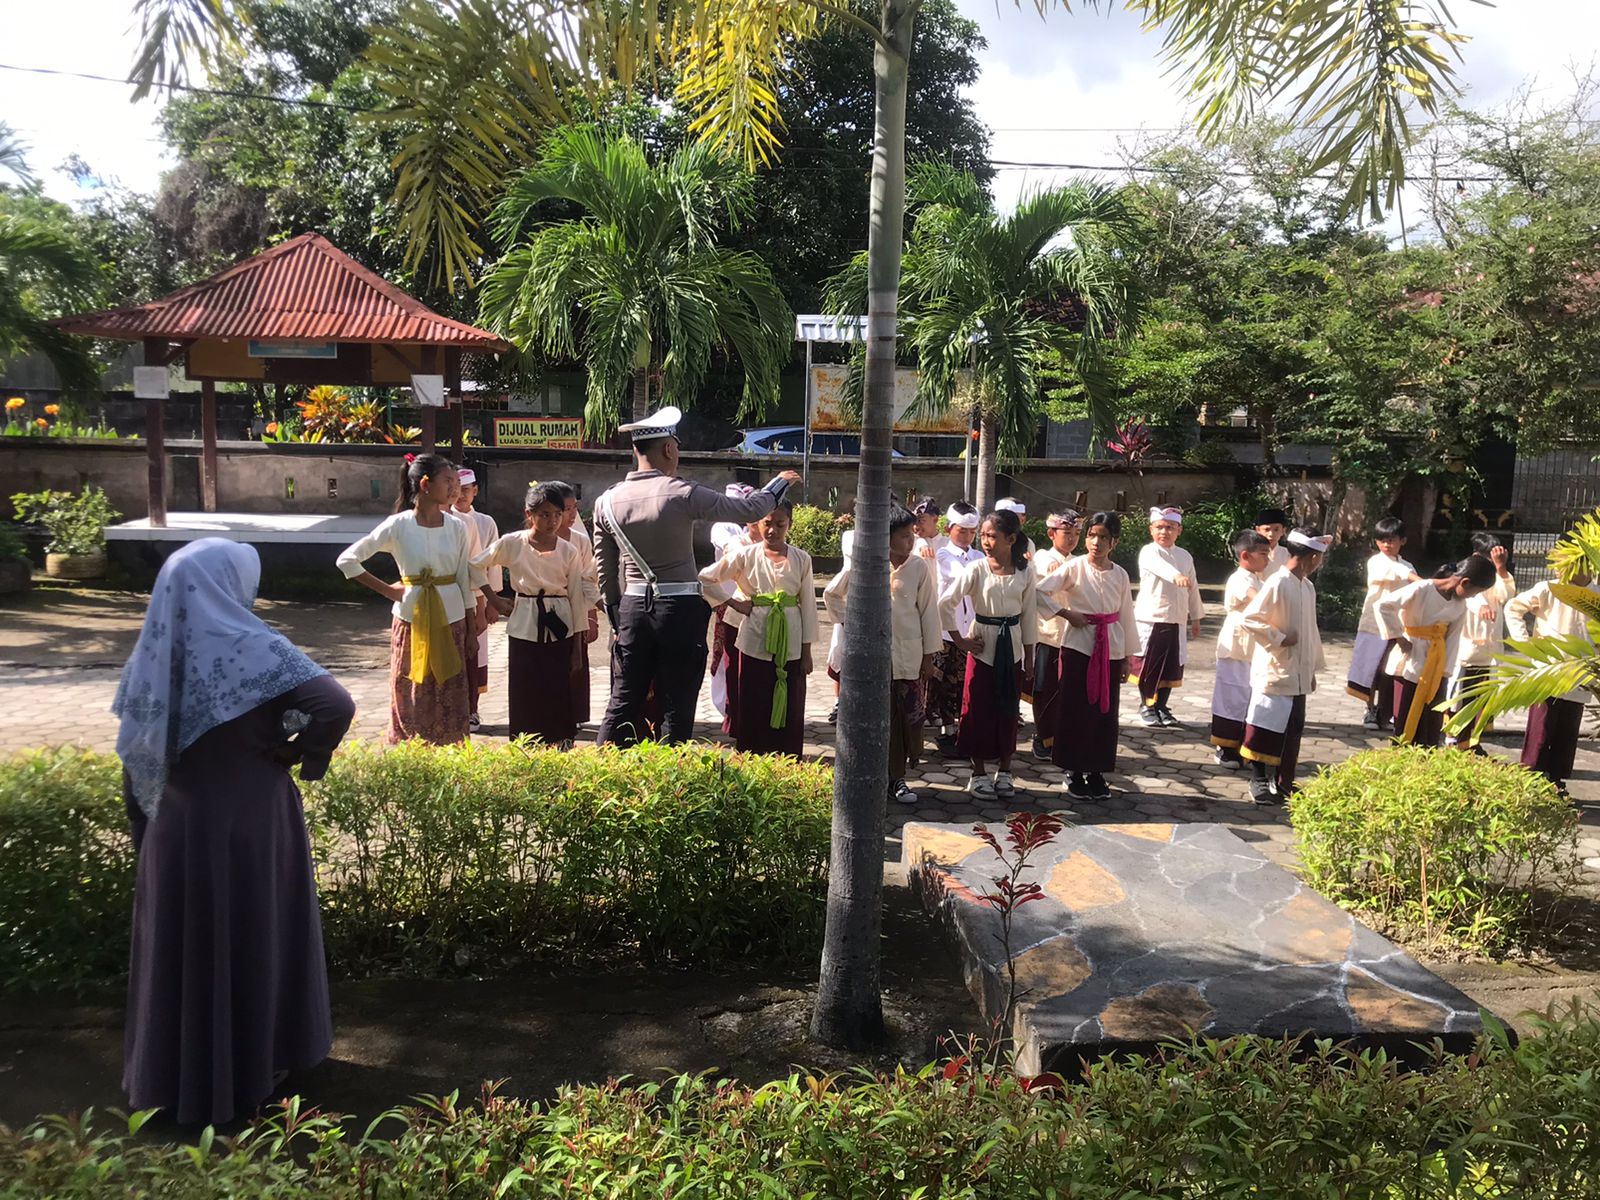
<path fill-rule="evenodd" d="M 987 510 L 997 451 L 1032 450 L 1042 376 L 1058 357 L 1077 368 L 1096 422 L 1109 424 L 1102 355 L 1139 318 L 1131 275 L 1141 210 L 1120 187 L 1078 181 L 1026 195 L 1000 216 L 978 179 L 944 163 L 912 171 L 907 202 L 899 328 L 918 365 L 915 410 L 944 414 L 968 381 L 981 430 L 976 499 Z M 858 254 L 834 277 L 832 309 L 862 310 L 867 266 Z"/>

